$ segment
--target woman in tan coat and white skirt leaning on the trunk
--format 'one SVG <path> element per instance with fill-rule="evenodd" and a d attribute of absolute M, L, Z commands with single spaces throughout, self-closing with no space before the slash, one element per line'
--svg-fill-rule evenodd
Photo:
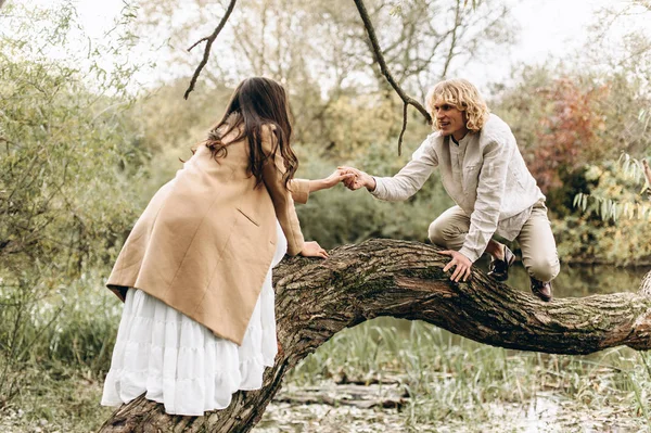
<path fill-rule="evenodd" d="M 133 227 L 107 282 L 125 309 L 102 405 L 145 393 L 202 416 L 261 387 L 277 353 L 271 268 L 285 252 L 328 257 L 304 241 L 294 201 L 346 177 L 293 179 L 288 109 L 278 82 L 242 81 Z"/>

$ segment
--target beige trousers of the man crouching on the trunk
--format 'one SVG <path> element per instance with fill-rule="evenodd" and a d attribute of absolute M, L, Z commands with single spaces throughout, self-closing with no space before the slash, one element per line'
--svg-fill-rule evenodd
<path fill-rule="evenodd" d="M 430 225 L 429 235 L 435 245 L 459 251 L 469 229 L 470 217 L 461 207 L 454 206 Z M 559 275 L 561 265 L 545 203 L 534 205 L 532 215 L 515 239 L 520 243 L 522 263 L 529 276 L 539 281 L 551 281 Z"/>

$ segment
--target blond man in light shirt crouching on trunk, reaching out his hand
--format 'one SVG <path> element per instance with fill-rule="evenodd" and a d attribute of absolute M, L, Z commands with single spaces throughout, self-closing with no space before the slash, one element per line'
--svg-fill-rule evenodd
<path fill-rule="evenodd" d="M 545 206 L 518 149 L 509 126 L 490 114 L 477 89 L 464 79 L 438 82 L 430 90 L 426 107 L 434 118 L 434 133 L 413 153 L 394 177 L 372 177 L 353 167 L 356 176 L 345 181 L 350 190 L 365 187 L 373 196 L 401 201 L 420 190 L 438 167 L 443 184 L 457 203 L 436 218 L 430 240 L 452 257 L 452 281 L 467 281 L 472 264 L 490 254 L 489 272 L 505 281 L 515 260 L 513 253 L 494 234 L 518 239 L 532 292 L 540 300 L 552 297 L 551 280 L 560 265 Z"/>

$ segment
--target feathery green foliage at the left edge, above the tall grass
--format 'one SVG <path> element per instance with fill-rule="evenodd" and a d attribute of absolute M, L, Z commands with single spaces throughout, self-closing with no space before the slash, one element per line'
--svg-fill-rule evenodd
<path fill-rule="evenodd" d="M 145 154 L 130 101 L 90 90 L 88 69 L 42 54 L 73 26 L 65 4 L 38 11 L 52 27 L 33 55 L 17 55 L 20 34 L 0 46 L 0 256 L 13 270 L 37 257 L 60 270 L 104 263 L 135 217 L 127 182 Z"/>

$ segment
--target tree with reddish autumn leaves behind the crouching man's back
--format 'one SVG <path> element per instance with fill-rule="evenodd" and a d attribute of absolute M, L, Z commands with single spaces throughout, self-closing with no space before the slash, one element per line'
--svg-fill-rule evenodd
<path fill-rule="evenodd" d="M 500 94 L 495 110 L 511 125 L 549 207 L 560 216 L 572 213 L 574 195 L 593 184 L 585 176 L 587 165 L 650 148 L 640 107 L 651 99 L 641 90 L 620 73 L 552 74 L 541 67 L 525 68 L 520 84 Z"/>

